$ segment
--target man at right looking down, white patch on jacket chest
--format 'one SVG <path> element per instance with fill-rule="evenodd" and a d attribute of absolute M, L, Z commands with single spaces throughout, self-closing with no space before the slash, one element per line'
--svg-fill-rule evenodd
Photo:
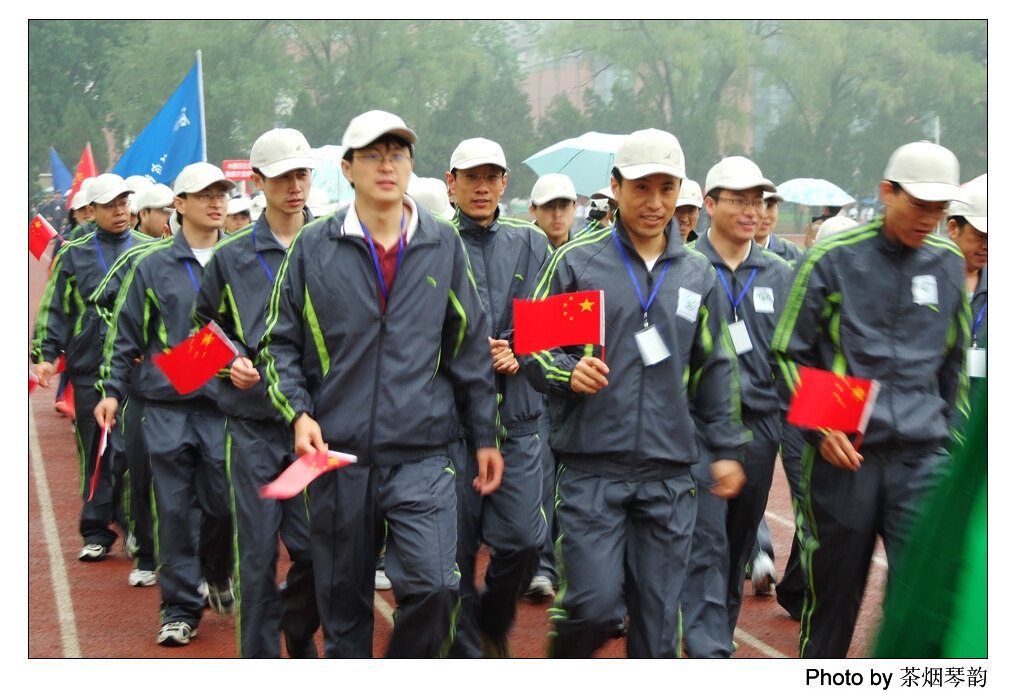
<path fill-rule="evenodd" d="M 860 451 L 839 431 L 804 433 L 803 657 L 846 655 L 876 538 L 892 580 L 966 407 L 963 259 L 935 235 L 948 200 L 961 198 L 958 183 L 948 149 L 928 141 L 896 149 L 880 186 L 885 215 L 805 254 L 773 336 L 787 398 L 799 366 L 881 383 Z"/>

